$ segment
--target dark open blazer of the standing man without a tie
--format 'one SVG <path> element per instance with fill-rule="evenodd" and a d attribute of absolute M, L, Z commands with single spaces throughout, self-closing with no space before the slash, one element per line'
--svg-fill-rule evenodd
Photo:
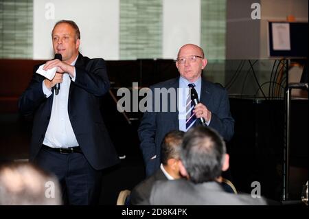
<path fill-rule="evenodd" d="M 90 59 L 79 54 L 75 68 L 76 80 L 71 81 L 69 89 L 69 119 L 84 156 L 95 170 L 101 170 L 119 162 L 100 113 L 100 97 L 108 92 L 110 85 L 105 61 L 102 58 Z M 45 78 L 36 73 L 36 69 L 38 66 L 34 68 L 32 80 L 19 99 L 20 113 L 34 115 L 31 161 L 41 149 L 54 97 L 53 92 L 46 98 L 42 89 Z"/>

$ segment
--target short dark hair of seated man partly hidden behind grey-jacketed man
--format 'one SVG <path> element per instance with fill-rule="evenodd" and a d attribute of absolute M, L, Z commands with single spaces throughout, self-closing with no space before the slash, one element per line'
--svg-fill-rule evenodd
<path fill-rule="evenodd" d="M 163 165 L 168 164 L 168 159 L 179 159 L 183 135 L 185 132 L 181 130 L 172 130 L 165 135 L 161 144 L 161 163 Z"/>

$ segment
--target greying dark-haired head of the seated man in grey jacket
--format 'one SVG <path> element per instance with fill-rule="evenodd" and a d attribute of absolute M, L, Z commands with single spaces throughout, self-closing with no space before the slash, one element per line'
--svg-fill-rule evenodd
<path fill-rule="evenodd" d="M 193 183 L 215 181 L 229 168 L 225 141 L 212 128 L 196 126 L 185 133 L 180 172 Z"/>

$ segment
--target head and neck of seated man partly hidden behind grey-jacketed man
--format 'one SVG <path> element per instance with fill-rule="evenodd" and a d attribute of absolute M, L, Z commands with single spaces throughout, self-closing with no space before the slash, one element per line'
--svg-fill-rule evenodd
<path fill-rule="evenodd" d="M 184 134 L 181 130 L 172 130 L 165 135 L 161 145 L 161 162 L 164 170 L 173 178 L 180 178 L 179 152 Z"/>

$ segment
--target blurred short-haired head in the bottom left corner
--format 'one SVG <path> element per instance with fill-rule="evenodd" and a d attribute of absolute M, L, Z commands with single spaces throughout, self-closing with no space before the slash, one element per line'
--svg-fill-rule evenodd
<path fill-rule="evenodd" d="M 0 205 L 61 205 L 56 177 L 30 163 L 0 167 Z"/>

